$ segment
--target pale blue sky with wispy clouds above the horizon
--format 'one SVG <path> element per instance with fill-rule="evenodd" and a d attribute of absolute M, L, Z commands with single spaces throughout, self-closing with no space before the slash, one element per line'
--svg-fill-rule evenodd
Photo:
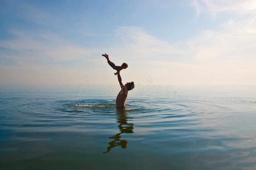
<path fill-rule="evenodd" d="M 0 5 L 0 84 L 256 84 L 255 0 Z"/>

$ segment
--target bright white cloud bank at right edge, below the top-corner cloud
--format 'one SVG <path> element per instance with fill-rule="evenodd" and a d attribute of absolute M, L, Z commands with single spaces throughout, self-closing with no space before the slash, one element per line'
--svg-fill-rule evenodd
<path fill-rule="evenodd" d="M 224 24 L 220 31 L 205 30 L 189 41 L 196 60 L 255 61 L 256 18 Z"/>

